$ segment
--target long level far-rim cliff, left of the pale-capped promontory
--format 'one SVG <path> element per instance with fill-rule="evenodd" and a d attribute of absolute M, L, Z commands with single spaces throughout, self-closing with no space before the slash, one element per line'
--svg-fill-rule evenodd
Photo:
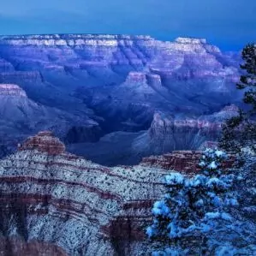
<path fill-rule="evenodd" d="M 152 56 L 150 48 L 155 46 L 156 40 L 149 36 L 55 34 L 0 38 L 3 57 L 18 50 L 12 60 L 26 70 L 30 67 L 65 71 L 65 68 L 107 68 L 108 65 L 141 69 Z M 147 47 L 149 51 L 145 50 Z M 21 59 L 26 62 L 21 63 Z"/>

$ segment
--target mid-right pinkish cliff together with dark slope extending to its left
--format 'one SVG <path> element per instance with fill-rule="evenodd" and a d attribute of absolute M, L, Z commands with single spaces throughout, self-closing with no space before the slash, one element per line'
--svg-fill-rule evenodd
<path fill-rule="evenodd" d="M 113 132 L 97 143 L 70 144 L 68 151 L 99 164 L 137 164 L 150 155 L 217 146 L 223 122 L 236 115 L 238 108 L 235 105 L 226 106 L 212 115 L 202 116 L 170 115 L 167 111 L 156 111 L 147 130 L 136 133 Z M 132 124 L 134 127 L 131 122 L 129 127 Z"/>

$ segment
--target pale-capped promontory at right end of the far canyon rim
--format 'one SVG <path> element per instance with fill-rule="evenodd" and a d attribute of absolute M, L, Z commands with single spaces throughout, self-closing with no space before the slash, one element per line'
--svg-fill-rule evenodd
<path fill-rule="evenodd" d="M 174 77 L 178 80 L 188 80 L 204 77 L 226 77 L 228 80 L 238 80 L 235 67 L 223 67 L 222 52 L 209 45 L 206 39 L 177 38 L 174 42 L 162 42 L 159 53 L 150 68 L 153 72 Z"/>

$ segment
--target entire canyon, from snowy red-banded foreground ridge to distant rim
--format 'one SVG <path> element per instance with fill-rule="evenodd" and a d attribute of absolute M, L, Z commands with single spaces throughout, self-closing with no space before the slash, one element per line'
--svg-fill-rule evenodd
<path fill-rule="evenodd" d="M 238 115 L 240 63 L 206 39 L 1 36 L 0 255 L 150 255 L 163 177 Z"/>

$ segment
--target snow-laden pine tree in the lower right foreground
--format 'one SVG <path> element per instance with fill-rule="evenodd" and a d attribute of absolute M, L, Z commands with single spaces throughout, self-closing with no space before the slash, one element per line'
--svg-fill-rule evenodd
<path fill-rule="evenodd" d="M 229 208 L 238 203 L 232 189 L 235 176 L 221 170 L 226 158 L 222 151 L 206 149 L 198 175 L 165 176 L 164 199 L 153 205 L 153 222 L 146 229 L 154 244 L 165 248 L 152 255 L 212 255 L 230 246 L 225 236 L 238 228 Z"/>

